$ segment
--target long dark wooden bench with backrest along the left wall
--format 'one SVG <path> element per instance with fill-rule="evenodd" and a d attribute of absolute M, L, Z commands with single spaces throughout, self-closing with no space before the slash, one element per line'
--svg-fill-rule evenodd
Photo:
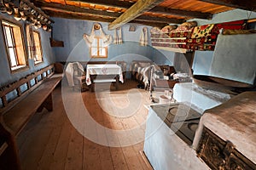
<path fill-rule="evenodd" d="M 54 65 L 49 65 L 0 88 L 0 169 L 20 169 L 16 137 L 37 111 L 53 111 L 52 91 L 62 79 L 54 73 Z M 9 101 L 13 92 L 17 95 Z"/>

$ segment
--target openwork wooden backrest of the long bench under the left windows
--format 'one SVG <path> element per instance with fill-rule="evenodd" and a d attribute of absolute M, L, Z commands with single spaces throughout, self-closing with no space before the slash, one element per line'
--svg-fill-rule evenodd
<path fill-rule="evenodd" d="M 33 89 L 37 88 L 45 78 L 54 74 L 54 65 L 49 65 L 38 71 L 32 72 L 20 80 L 9 83 L 0 88 L 0 99 L 2 105 L 0 107 L 0 116 L 13 107 L 16 103 L 26 97 Z M 11 94 L 11 98 L 9 98 Z"/>

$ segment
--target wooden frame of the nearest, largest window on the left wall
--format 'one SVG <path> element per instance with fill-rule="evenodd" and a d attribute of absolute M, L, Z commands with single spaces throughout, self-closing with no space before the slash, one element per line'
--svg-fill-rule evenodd
<path fill-rule="evenodd" d="M 24 71 L 24 70 L 28 70 L 29 69 L 29 63 L 28 63 L 28 59 L 27 59 L 27 55 L 26 55 L 26 48 L 25 48 L 25 40 L 24 40 L 24 31 L 23 31 L 23 27 L 14 22 L 14 21 L 9 21 L 9 20 L 5 20 L 3 18 L 0 18 L 0 24 L 1 24 L 1 27 L 2 27 L 2 34 L 3 34 L 3 42 L 4 42 L 4 46 L 5 46 L 5 50 L 6 50 L 6 54 L 7 54 L 7 59 L 8 59 L 8 62 L 9 62 L 9 70 L 11 73 L 16 73 L 16 72 L 19 72 L 19 71 Z M 22 47 L 20 47 L 20 50 L 23 50 L 23 57 L 22 59 L 24 60 L 24 64 L 21 65 L 19 64 L 19 56 L 17 55 L 17 46 L 16 46 L 16 42 L 15 42 L 15 35 L 14 35 L 14 32 L 11 33 L 11 37 L 12 37 L 12 45 L 14 47 L 12 48 L 15 48 L 15 62 L 16 62 L 16 65 L 15 66 L 12 66 L 12 61 L 11 61 L 11 56 L 9 54 L 9 45 L 8 45 L 8 40 L 7 40 L 7 37 L 6 37 L 6 30 L 5 30 L 5 26 L 9 26 L 9 27 L 19 27 L 20 29 L 20 42 L 22 43 Z M 13 29 L 10 29 L 13 31 Z"/>

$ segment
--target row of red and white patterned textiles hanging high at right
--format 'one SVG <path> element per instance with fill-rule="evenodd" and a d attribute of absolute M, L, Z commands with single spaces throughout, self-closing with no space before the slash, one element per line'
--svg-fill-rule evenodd
<path fill-rule="evenodd" d="M 191 25 L 190 29 L 188 24 Z M 224 32 L 225 29 L 229 29 L 228 32 L 237 32 L 238 30 L 244 29 L 246 20 L 205 26 L 195 26 L 195 24 L 184 23 L 169 33 L 151 33 L 152 45 L 162 48 L 183 48 L 187 49 L 187 51 L 214 50 L 220 29 L 224 29 Z"/>

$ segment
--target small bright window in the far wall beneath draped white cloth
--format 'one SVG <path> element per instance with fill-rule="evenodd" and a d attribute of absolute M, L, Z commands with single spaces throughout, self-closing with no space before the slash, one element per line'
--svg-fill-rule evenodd
<path fill-rule="evenodd" d="M 104 46 L 102 37 L 94 37 L 90 47 L 90 57 L 92 58 L 107 58 L 108 46 Z"/>

